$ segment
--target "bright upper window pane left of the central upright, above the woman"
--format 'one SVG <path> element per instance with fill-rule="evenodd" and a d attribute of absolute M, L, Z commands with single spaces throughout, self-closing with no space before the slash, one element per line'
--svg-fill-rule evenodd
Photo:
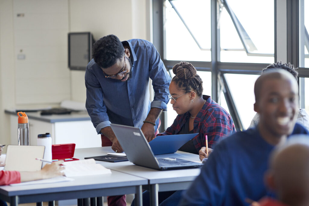
<path fill-rule="evenodd" d="M 211 61 L 210 0 L 166 1 L 164 27 L 167 60 Z"/>

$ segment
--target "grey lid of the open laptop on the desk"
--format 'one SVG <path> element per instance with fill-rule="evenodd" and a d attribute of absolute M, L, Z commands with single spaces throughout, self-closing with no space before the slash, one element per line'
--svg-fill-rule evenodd
<path fill-rule="evenodd" d="M 159 163 L 140 128 L 119 124 L 111 124 L 111 127 L 130 162 L 160 169 Z"/>

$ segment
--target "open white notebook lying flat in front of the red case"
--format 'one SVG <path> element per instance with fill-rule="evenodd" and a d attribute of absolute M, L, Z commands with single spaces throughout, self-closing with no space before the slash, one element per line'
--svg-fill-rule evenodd
<path fill-rule="evenodd" d="M 111 170 L 101 164 L 95 164 L 94 159 L 76 160 L 62 163 L 66 177 L 78 177 L 98 174 L 111 174 Z"/>

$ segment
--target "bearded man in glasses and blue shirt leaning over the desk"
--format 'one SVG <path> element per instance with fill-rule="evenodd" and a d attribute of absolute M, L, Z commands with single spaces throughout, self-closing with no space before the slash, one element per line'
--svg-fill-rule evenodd
<path fill-rule="evenodd" d="M 92 55 L 85 74 L 86 108 L 98 134 L 107 137 L 117 152 L 122 148 L 110 123 L 139 127 L 151 141 L 158 116 L 167 109 L 171 81 L 155 46 L 141 39 L 121 42 L 108 35 L 95 42 Z M 155 91 L 151 103 L 149 78 Z M 111 145 L 105 142 L 102 137 L 102 146 Z"/>

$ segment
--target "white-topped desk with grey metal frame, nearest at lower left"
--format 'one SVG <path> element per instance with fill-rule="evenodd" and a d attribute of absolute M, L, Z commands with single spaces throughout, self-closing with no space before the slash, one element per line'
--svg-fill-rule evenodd
<path fill-rule="evenodd" d="M 142 185 L 148 180 L 112 170 L 112 174 L 76 177 L 71 182 L 25 186 L 1 186 L 0 199 L 10 202 L 31 203 L 53 200 L 93 198 L 135 193 L 138 205 L 142 204 Z M 101 203 L 103 205 L 103 201 Z"/>

